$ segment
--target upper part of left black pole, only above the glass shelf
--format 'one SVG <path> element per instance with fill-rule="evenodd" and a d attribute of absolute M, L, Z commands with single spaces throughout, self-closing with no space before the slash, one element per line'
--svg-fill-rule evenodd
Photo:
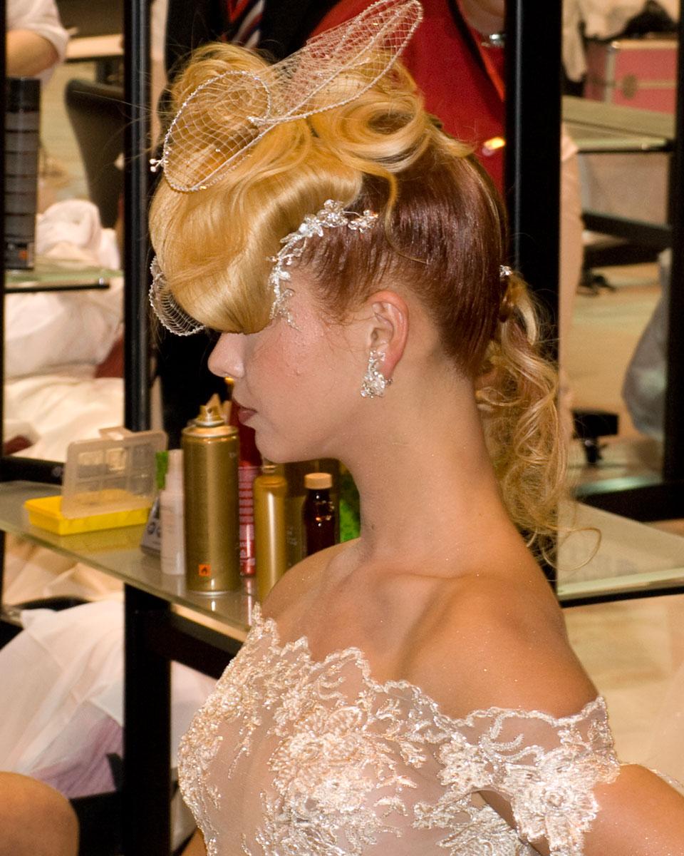
<path fill-rule="evenodd" d="M 150 6 L 124 6 L 124 93 L 128 122 L 124 138 L 125 425 L 150 426 L 150 368 L 147 288 L 149 241 L 147 192 L 150 152 Z"/>

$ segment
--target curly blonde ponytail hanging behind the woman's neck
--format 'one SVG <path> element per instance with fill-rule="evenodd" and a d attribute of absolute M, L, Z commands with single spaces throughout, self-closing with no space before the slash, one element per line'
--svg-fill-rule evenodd
<path fill-rule="evenodd" d="M 557 411 L 557 372 L 541 353 L 540 311 L 525 282 L 508 277 L 498 333 L 486 352 L 477 401 L 509 514 L 528 546 L 551 560 L 567 450 Z"/>

